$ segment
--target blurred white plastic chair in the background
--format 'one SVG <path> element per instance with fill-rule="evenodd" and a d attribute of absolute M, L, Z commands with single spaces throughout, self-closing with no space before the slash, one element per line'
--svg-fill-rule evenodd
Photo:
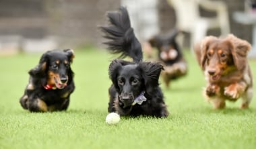
<path fill-rule="evenodd" d="M 210 0 L 167 0 L 177 16 L 176 27 L 191 34 L 191 48 L 207 35 L 207 30 L 220 28 L 222 36 L 230 33 L 228 10 L 222 1 Z M 201 17 L 199 6 L 215 11 L 216 17 Z"/>

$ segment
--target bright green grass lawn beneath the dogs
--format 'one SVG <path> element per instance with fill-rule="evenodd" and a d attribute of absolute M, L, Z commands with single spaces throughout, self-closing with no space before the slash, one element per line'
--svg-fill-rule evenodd
<path fill-rule="evenodd" d="M 75 51 L 75 92 L 67 111 L 30 113 L 19 98 L 28 70 L 40 54 L 0 58 L 0 148 L 256 148 L 256 101 L 241 101 L 214 110 L 202 97 L 204 77 L 193 56 L 187 77 L 164 85 L 170 115 L 166 119 L 121 117 L 108 126 L 108 64 L 113 56 L 100 50 Z M 256 78 L 256 61 L 250 61 Z M 255 90 L 254 90 L 255 91 Z"/>

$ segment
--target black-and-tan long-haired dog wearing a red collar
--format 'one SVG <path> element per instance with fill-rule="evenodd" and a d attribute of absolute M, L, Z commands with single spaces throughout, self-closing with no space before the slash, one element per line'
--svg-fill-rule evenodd
<path fill-rule="evenodd" d="M 30 79 L 20 104 L 29 111 L 61 111 L 69 106 L 73 93 L 73 50 L 51 50 L 29 71 Z"/>

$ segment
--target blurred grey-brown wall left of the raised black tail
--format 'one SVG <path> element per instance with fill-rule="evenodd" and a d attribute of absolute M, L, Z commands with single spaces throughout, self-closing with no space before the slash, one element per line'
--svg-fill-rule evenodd
<path fill-rule="evenodd" d="M 0 0 L 0 36 L 57 36 L 60 44 L 98 44 L 97 26 L 116 0 Z"/>

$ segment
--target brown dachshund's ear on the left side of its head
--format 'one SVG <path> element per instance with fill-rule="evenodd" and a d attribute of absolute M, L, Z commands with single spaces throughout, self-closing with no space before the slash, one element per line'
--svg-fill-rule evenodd
<path fill-rule="evenodd" d="M 214 40 L 218 40 L 218 38 L 216 38 L 214 36 L 207 36 L 201 41 L 201 45 L 199 48 L 201 50 L 200 66 L 203 70 L 205 68 L 205 63 L 207 62 L 207 50 L 208 50 L 210 44 L 212 44 L 212 42 L 214 42 Z"/>

